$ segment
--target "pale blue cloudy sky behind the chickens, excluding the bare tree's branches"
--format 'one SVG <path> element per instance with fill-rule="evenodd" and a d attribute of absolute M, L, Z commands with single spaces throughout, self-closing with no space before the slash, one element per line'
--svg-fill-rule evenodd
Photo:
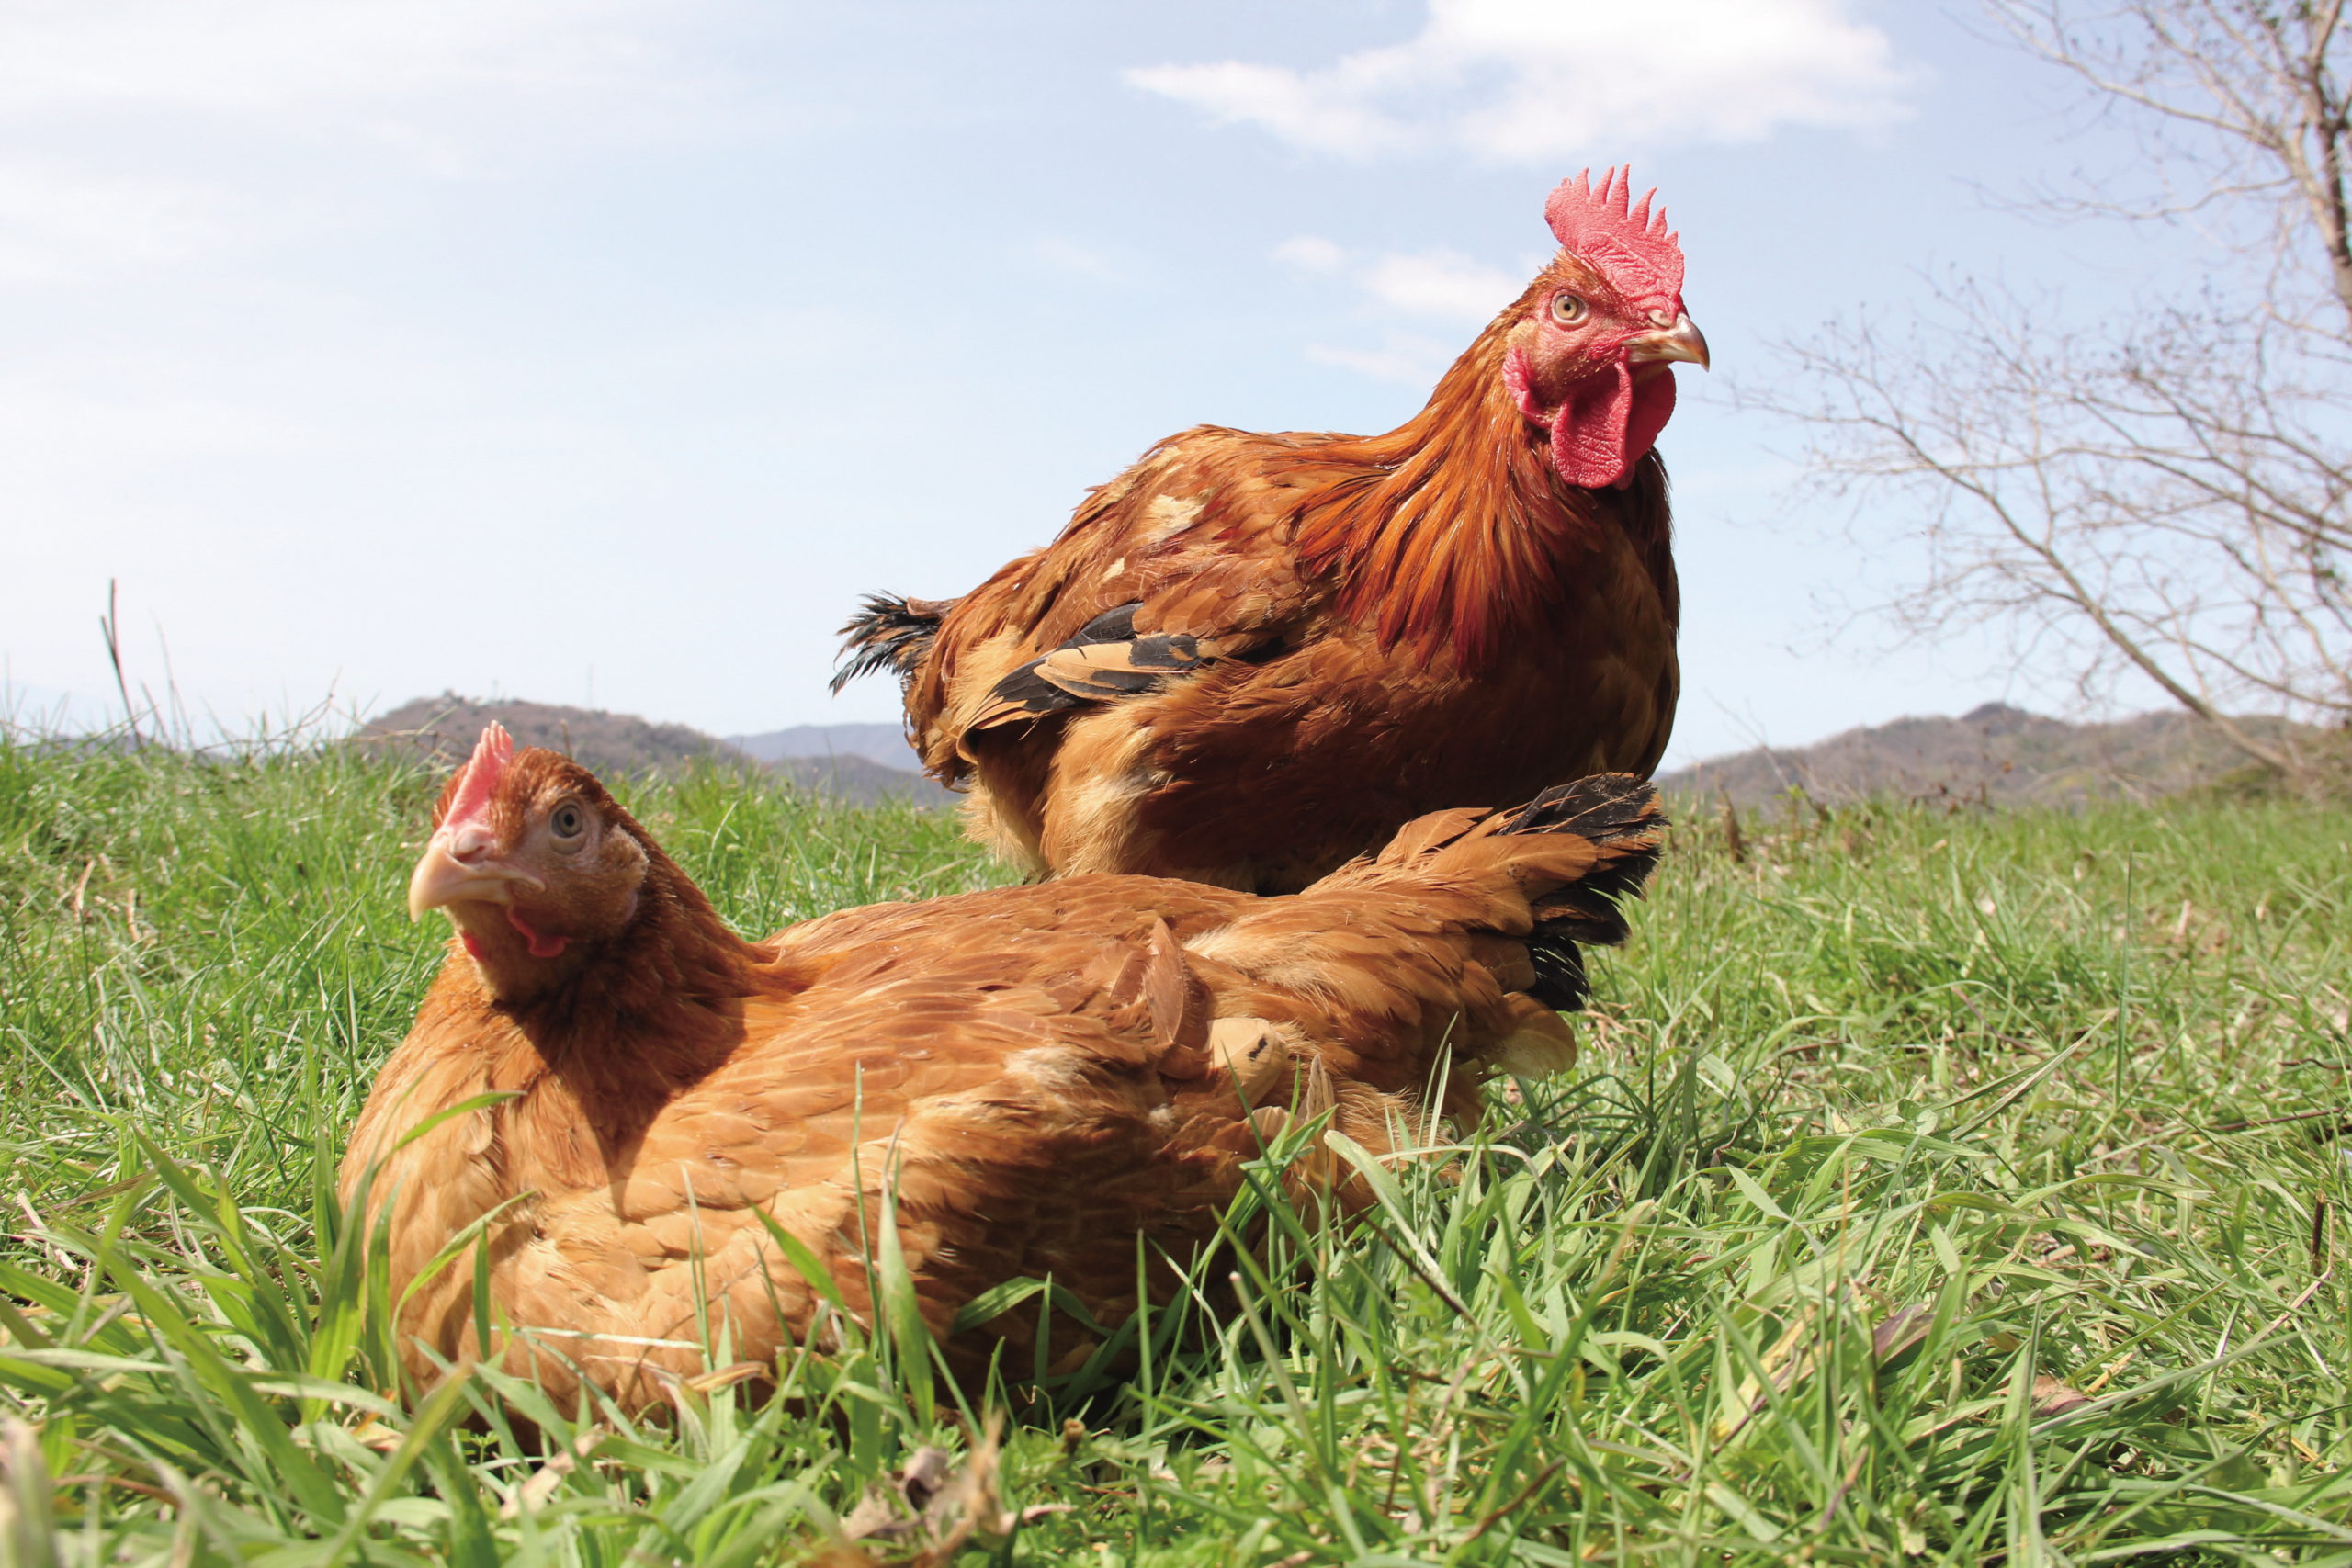
<path fill-rule="evenodd" d="M 1771 341 L 2176 240 L 1987 207 L 2084 160 L 1964 5 L 75 0 L 0 12 L 0 661 L 245 729 L 454 689 L 715 733 L 826 693 L 1192 423 L 1378 430 L 1635 160 L 1717 376 L 1661 440 L 1670 762 L 2063 670 L 1844 625 L 1893 531 L 1792 503 Z M 2112 150 L 2112 148 L 2110 148 Z M 2119 693 L 2124 708 L 2152 705 Z"/>

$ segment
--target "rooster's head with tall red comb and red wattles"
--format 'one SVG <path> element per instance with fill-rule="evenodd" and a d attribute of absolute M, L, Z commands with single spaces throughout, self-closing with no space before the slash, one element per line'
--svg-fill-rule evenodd
<path fill-rule="evenodd" d="M 1559 181 L 1543 216 L 1559 256 L 1519 299 L 1503 383 L 1519 411 L 1550 430 L 1569 484 L 1628 484 L 1675 411 L 1670 364 L 1708 367 L 1708 341 L 1682 308 L 1682 244 L 1651 214 L 1651 190 L 1628 207 L 1628 169 Z"/>

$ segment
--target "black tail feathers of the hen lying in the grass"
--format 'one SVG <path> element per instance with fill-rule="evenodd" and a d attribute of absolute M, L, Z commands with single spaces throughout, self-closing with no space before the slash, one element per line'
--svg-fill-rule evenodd
<path fill-rule="evenodd" d="M 1585 1004 L 1585 947 L 1625 940 L 1621 898 L 1637 898 L 1665 846 L 1665 806 L 1646 778 L 1595 773 L 1545 790 L 1508 813 L 1501 832 L 1573 832 L 1602 851 L 1581 882 L 1555 889 L 1536 905 L 1526 954 L 1536 964 L 1529 997 L 1562 1013 Z"/>

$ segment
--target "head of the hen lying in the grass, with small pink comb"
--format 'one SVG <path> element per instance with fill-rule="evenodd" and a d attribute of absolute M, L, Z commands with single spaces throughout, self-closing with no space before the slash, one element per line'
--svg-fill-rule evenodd
<path fill-rule="evenodd" d="M 409 877 L 409 919 L 445 910 L 501 1001 L 543 994 L 637 919 L 654 853 L 595 776 L 515 750 L 503 724 L 442 788 Z"/>

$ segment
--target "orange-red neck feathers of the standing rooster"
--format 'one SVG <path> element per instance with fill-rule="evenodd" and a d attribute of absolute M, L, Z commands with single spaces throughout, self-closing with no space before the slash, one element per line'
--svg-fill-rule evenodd
<path fill-rule="evenodd" d="M 1388 435 L 1345 437 L 1317 461 L 1362 463 L 1301 520 L 1308 569 L 1341 578 L 1338 609 L 1374 621 L 1381 646 L 1446 642 L 1486 663 L 1562 588 L 1588 491 L 1552 470 L 1550 437 L 1503 386 L 1503 350 L 1538 280 L 1439 378 L 1430 402 Z"/>

